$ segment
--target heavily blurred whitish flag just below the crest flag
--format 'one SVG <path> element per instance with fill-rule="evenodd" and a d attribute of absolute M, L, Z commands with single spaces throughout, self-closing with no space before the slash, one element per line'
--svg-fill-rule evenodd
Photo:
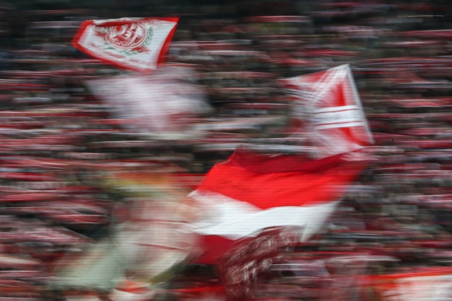
<path fill-rule="evenodd" d="M 86 84 L 123 126 L 155 139 L 182 139 L 197 134 L 192 120 L 210 110 L 203 90 L 186 80 L 192 76 L 189 68 L 165 66 Z"/>

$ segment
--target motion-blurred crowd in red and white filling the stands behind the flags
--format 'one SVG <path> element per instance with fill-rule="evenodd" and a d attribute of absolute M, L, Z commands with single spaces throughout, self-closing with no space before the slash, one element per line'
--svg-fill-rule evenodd
<path fill-rule="evenodd" d="M 292 260 L 386 256 L 373 274 L 452 263 L 447 1 L 30 0 L 0 9 L 0 299 L 54 298 L 45 288 L 54 263 L 108 236 L 121 197 L 102 182 L 106 171 L 171 169 L 190 189 L 239 144 L 302 150 L 309 132 L 291 135 L 294 100 L 278 80 L 341 64 L 351 64 L 379 161 Z M 207 95 L 202 138 L 144 138 L 85 85 L 128 71 L 73 48 L 80 23 L 151 16 L 181 17 L 168 63 L 191 68 L 185 80 Z M 299 272 L 319 275 L 308 268 Z"/>

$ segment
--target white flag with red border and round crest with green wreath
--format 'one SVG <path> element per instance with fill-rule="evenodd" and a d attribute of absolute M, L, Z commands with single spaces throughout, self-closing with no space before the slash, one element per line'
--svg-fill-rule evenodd
<path fill-rule="evenodd" d="M 122 18 L 82 23 L 72 45 L 120 68 L 156 69 L 164 62 L 179 18 Z"/>

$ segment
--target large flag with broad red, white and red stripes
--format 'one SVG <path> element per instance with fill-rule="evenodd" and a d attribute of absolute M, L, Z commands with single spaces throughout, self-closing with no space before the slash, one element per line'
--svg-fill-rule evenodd
<path fill-rule="evenodd" d="M 216 164 L 189 195 L 209 213 L 194 229 L 207 244 L 204 261 L 265 228 L 302 227 L 301 240 L 309 239 L 367 165 L 349 158 L 307 160 L 239 149 Z"/>

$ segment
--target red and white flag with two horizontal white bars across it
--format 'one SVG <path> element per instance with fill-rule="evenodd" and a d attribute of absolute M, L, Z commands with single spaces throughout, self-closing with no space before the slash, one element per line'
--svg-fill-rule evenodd
<path fill-rule="evenodd" d="M 349 65 L 285 79 L 284 84 L 311 114 L 305 130 L 319 147 L 319 158 L 373 144 Z"/>

